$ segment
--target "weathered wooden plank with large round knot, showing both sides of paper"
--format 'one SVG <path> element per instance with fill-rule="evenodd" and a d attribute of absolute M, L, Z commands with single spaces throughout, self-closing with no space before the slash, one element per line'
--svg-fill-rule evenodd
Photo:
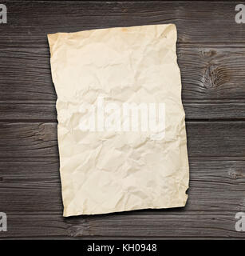
<path fill-rule="evenodd" d="M 179 44 L 177 54 L 184 101 L 244 102 L 245 47 Z M 47 42 L 34 46 L 1 46 L 0 42 L 0 58 L 2 102 L 23 100 L 54 104 L 57 96 L 51 79 Z M 232 102 L 228 103 L 232 107 Z"/>

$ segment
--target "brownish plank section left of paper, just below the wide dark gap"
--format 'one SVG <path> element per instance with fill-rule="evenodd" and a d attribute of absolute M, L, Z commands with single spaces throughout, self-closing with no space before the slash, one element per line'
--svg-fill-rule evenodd
<path fill-rule="evenodd" d="M 58 156 L 55 123 L 1 123 L 0 135 L 0 158 Z"/>

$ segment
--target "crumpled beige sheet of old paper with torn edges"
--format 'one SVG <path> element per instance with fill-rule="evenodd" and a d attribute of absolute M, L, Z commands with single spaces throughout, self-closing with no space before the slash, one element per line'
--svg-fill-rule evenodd
<path fill-rule="evenodd" d="M 64 216 L 185 206 L 189 170 L 176 26 L 48 39 Z"/>

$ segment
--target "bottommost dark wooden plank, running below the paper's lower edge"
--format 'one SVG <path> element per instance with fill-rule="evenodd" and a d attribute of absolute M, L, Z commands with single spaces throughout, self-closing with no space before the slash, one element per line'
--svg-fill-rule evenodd
<path fill-rule="evenodd" d="M 62 218 L 57 214 L 9 214 L 1 238 L 244 238 L 231 214 L 108 214 Z"/>

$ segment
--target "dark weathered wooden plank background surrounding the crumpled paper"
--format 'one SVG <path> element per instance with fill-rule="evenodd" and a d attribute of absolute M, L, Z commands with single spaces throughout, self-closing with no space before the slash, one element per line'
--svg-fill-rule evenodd
<path fill-rule="evenodd" d="M 245 24 L 235 2 L 1 2 L 0 238 L 245 238 Z M 186 111 L 183 209 L 62 217 L 46 34 L 173 22 Z"/>

